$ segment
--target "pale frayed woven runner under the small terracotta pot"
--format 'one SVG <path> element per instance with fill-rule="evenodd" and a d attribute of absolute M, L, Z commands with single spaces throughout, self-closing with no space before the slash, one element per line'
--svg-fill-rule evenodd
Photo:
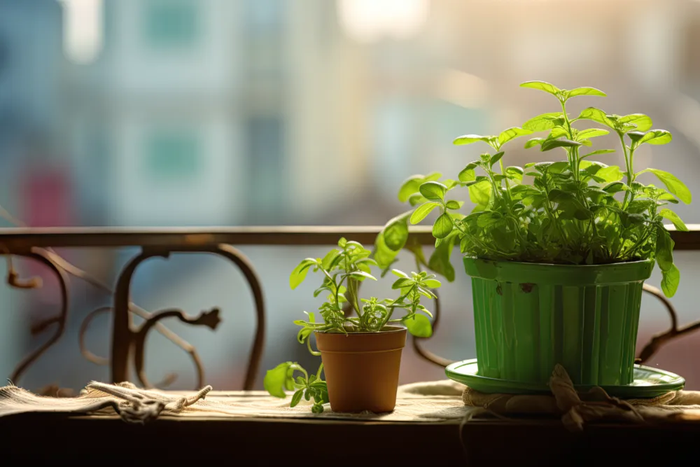
<path fill-rule="evenodd" d="M 76 398 L 37 396 L 17 386 L 0 388 L 0 417 L 25 412 L 64 412 L 95 416 L 119 414 L 125 421 L 143 423 L 158 416 L 326 418 L 371 421 L 445 421 L 462 419 L 469 407 L 461 402 L 462 384 L 444 381 L 400 386 L 391 413 L 341 414 L 325 405 L 311 413 L 311 402 L 289 407 L 290 397 L 279 399 L 265 391 L 212 391 L 197 393 L 139 389 L 131 383 L 91 382 Z"/>

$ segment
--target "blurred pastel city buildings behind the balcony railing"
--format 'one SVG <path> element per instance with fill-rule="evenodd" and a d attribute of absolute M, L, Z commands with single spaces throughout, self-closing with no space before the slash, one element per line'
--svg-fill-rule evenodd
<path fill-rule="evenodd" d="M 652 116 L 673 143 L 640 149 L 637 167 L 673 172 L 693 189 L 698 46 L 694 0 L 0 0 L 0 205 L 31 226 L 381 225 L 401 212 L 395 192 L 407 176 L 456 176 L 479 153 L 452 146 L 457 135 L 497 134 L 558 110 L 546 95 L 518 88 L 533 79 L 608 92 L 577 98 L 572 113 L 596 105 Z M 519 147 L 512 144 L 510 164 L 542 160 Z M 617 153 L 603 157 L 621 162 Z M 700 204 L 678 214 L 700 223 Z M 269 315 L 260 387 L 279 361 L 315 366 L 291 321 L 318 306 L 316 284 L 290 291 L 288 273 L 324 250 L 243 249 L 262 277 Z M 61 253 L 113 283 L 134 251 Z M 677 253 L 681 322 L 700 319 L 699 259 Z M 46 284 L 0 287 L 0 375 L 46 339 L 29 328 L 58 306 L 48 274 L 18 267 Z M 71 286 L 69 329 L 20 382 L 29 388 L 109 378 L 80 356 L 77 339 L 83 317 L 109 297 Z M 388 284 L 366 291 L 391 296 Z M 198 347 L 215 389 L 240 387 L 253 303 L 237 270 L 206 256 L 152 260 L 133 293 L 151 310 L 221 305 L 216 333 L 168 324 Z M 442 297 L 442 326 L 428 347 L 473 358 L 465 276 Z M 645 297 L 640 344 L 667 326 L 663 308 Z M 87 345 L 108 354 L 106 316 Z M 700 333 L 689 335 L 651 364 L 700 389 L 699 351 Z M 149 338 L 147 356 L 151 380 L 177 372 L 173 387 L 193 386 L 186 354 L 160 335 Z M 441 377 L 407 347 L 402 382 Z"/>

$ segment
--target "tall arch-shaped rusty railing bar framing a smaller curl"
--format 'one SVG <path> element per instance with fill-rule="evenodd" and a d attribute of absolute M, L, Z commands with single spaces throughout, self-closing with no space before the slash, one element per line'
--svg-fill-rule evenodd
<path fill-rule="evenodd" d="M 168 258 L 171 253 L 213 253 L 228 258 L 243 272 L 253 292 L 255 314 L 257 318 L 255 338 L 253 340 L 251 356 L 248 360 L 248 369 L 246 370 L 246 378 L 244 380 L 244 389 L 253 389 L 255 377 L 260 367 L 260 360 L 262 359 L 262 349 L 265 344 L 265 302 L 262 296 L 260 279 L 258 279 L 257 274 L 255 274 L 253 265 L 251 265 L 248 258 L 240 251 L 226 244 L 193 244 L 186 246 L 163 246 L 158 249 L 144 249 L 127 264 L 119 276 L 115 293 L 111 361 L 113 382 L 128 380 L 128 361 L 132 352 L 132 346 L 134 345 L 134 336 L 136 335 L 136 332 L 134 332 L 132 328 L 132 321 L 129 313 L 130 288 L 134 272 L 139 264 L 143 263 L 148 258 Z M 191 350 L 190 355 L 195 360 L 197 372 L 198 374 L 202 372 L 203 375 L 203 369 L 199 364 L 199 356 L 193 348 Z M 140 360 L 135 361 L 135 364 L 137 368 L 143 368 L 143 354 L 141 354 Z M 203 376 L 202 379 L 204 379 Z"/>

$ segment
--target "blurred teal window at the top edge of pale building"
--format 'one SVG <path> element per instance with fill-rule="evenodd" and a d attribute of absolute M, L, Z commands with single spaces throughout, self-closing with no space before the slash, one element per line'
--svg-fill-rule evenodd
<path fill-rule="evenodd" d="M 186 47 L 200 34 L 196 0 L 144 1 L 144 36 L 148 46 Z"/>

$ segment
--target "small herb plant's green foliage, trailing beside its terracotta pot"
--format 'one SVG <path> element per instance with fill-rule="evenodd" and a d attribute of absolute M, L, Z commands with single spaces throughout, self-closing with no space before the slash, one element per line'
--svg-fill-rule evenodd
<path fill-rule="evenodd" d="M 306 258 L 294 268 L 289 277 L 289 285 L 297 288 L 309 271 L 318 272 L 323 277 L 321 286 L 314 291 L 314 297 L 328 293 L 325 301 L 318 307 L 323 321 L 316 321 L 313 312 L 306 314 L 306 319 L 294 321 L 300 326 L 297 341 L 306 344 L 312 355 L 319 356 L 321 352 L 311 347 L 311 335 L 314 331 L 331 333 L 377 333 L 384 326 L 399 324 L 407 328 L 416 337 L 430 337 L 433 328 L 430 318 L 433 314 L 423 305 L 422 298 L 436 298 L 431 288 L 440 287 L 440 281 L 435 274 L 425 271 L 412 272 L 409 276 L 399 270 L 391 272 L 398 277 L 391 288 L 398 291 L 398 298 L 379 300 L 376 297 L 360 298 L 359 284 L 366 279 L 376 281 L 372 275 L 372 267 L 377 266 L 377 260 L 370 258 L 372 251 L 365 249 L 358 242 L 341 238 L 338 248 L 332 249 L 324 258 Z M 347 316 L 343 310 L 349 303 L 356 316 Z M 403 316 L 393 318 L 397 309 L 403 310 Z M 300 373 L 294 378 L 295 372 Z M 314 413 L 323 412 L 323 404 L 328 402 L 328 389 L 321 373 L 323 364 L 315 375 L 309 375 L 298 363 L 285 362 L 268 370 L 265 375 L 265 389 L 272 396 L 284 398 L 285 390 L 295 391 L 290 406 L 297 405 L 302 396 L 306 400 L 314 399 L 311 410 Z"/>

